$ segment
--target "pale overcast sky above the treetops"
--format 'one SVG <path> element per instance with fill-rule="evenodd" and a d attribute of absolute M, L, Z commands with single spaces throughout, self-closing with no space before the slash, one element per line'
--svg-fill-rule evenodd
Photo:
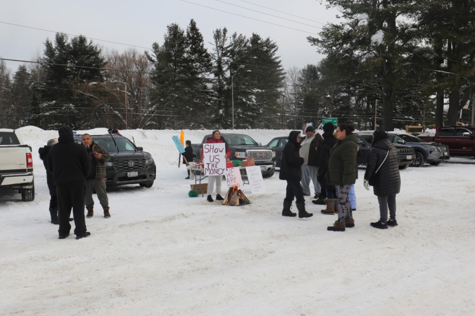
<path fill-rule="evenodd" d="M 55 32 L 84 35 L 104 49 L 143 51 L 153 42 L 163 43 L 167 25 L 186 30 L 194 19 L 210 52 L 218 28 L 247 37 L 257 33 L 277 43 L 285 70 L 322 58 L 306 37 L 337 22 L 338 14 L 320 0 L 16 0 L 3 1 L 0 12 L 1 58 L 33 60 L 43 55 L 45 40 L 53 40 Z M 19 64 L 6 61 L 12 73 Z"/>

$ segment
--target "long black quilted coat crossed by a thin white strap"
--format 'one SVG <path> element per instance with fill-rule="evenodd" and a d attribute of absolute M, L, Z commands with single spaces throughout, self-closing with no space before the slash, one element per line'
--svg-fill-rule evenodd
<path fill-rule="evenodd" d="M 389 151 L 384 163 L 384 157 Z M 401 177 L 399 176 L 399 154 L 397 149 L 388 139 L 381 139 L 376 142 L 368 154 L 366 161 L 365 180 L 370 180 L 376 169 L 381 165 L 380 170 L 375 175 L 373 192 L 376 196 L 392 196 L 401 190 Z"/>

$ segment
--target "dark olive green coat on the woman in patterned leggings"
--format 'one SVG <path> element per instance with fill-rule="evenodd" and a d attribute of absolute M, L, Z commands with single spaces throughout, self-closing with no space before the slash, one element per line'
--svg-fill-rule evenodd
<path fill-rule="evenodd" d="M 356 136 L 349 134 L 333 146 L 328 160 L 327 184 L 350 185 L 356 182 Z"/>

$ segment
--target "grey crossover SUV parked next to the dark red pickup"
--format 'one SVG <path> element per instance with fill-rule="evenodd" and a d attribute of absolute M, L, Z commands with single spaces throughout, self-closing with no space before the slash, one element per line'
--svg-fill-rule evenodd
<path fill-rule="evenodd" d="M 439 165 L 442 161 L 450 158 L 447 145 L 426 142 L 408 133 L 388 132 L 388 135 L 393 144 L 403 144 L 414 148 L 416 159 L 411 164 L 414 167 L 423 166 L 426 162 L 431 165 Z"/>

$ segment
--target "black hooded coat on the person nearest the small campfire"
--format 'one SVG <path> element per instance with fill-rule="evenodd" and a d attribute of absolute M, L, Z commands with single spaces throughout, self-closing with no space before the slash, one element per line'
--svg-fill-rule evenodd
<path fill-rule="evenodd" d="M 299 156 L 300 144 L 297 142 L 297 136 L 300 131 L 293 130 L 288 135 L 288 142 L 285 144 L 282 152 L 281 171 L 279 171 L 279 179 L 281 180 L 298 180 L 302 178 L 300 166 L 304 159 Z"/>

